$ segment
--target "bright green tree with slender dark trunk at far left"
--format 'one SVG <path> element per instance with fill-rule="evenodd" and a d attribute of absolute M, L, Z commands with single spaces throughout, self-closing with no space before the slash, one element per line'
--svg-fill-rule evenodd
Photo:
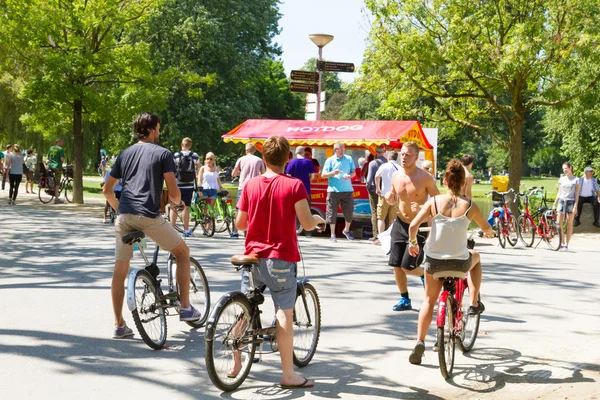
<path fill-rule="evenodd" d="M 133 40 L 157 0 L 6 0 L 0 4 L 0 48 L 18 65 L 21 121 L 47 135 L 72 134 L 73 201 L 83 203 L 84 116 L 131 121 L 166 95 L 152 74 L 149 47 Z M 7 63 L 5 63 L 6 66 Z M 6 67 L 5 67 L 6 68 Z M 10 70 L 12 71 L 12 69 Z"/>

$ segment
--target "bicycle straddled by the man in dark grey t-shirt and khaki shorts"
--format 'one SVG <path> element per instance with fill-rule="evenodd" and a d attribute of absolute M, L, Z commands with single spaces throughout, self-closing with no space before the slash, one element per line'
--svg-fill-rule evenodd
<path fill-rule="evenodd" d="M 144 342 L 154 350 L 160 350 L 167 341 L 167 316 L 179 315 L 179 288 L 175 280 L 177 260 L 171 253 L 167 259 L 167 288 L 164 294 L 161 288 L 162 279 L 158 279 L 160 269 L 157 265 L 158 245 L 154 249 L 152 262 L 144 252 L 142 239 L 144 232 L 135 231 L 121 236 L 123 243 L 138 244 L 138 250 L 146 263 L 144 268 L 132 268 L 127 276 L 127 307 L 131 311 L 135 326 Z M 193 328 L 200 328 L 208 318 L 210 310 L 210 289 L 208 280 L 200 263 L 190 257 L 190 303 L 202 317 L 197 321 L 186 321 Z M 170 314 L 170 310 L 175 313 Z"/>

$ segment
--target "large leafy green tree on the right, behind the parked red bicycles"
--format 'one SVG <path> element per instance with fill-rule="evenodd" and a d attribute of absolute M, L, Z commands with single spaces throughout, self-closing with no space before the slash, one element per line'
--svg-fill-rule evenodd
<path fill-rule="evenodd" d="M 518 189 L 527 113 L 566 103 L 598 82 L 597 0 L 367 0 L 374 21 L 363 75 L 380 111 L 424 113 L 508 150 Z M 415 109 L 427 96 L 431 108 Z M 503 131 L 494 129 L 494 119 Z"/>

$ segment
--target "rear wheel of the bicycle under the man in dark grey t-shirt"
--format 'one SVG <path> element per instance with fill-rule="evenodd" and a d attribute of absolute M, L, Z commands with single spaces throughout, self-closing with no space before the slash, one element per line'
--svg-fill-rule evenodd
<path fill-rule="evenodd" d="M 135 326 L 144 342 L 155 350 L 167 341 L 165 309 L 157 301 L 155 280 L 146 270 L 135 275 L 135 310 L 131 312 Z"/>

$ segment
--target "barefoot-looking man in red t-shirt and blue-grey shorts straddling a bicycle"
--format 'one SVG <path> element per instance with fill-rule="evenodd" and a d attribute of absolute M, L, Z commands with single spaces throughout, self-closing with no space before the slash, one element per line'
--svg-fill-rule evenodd
<path fill-rule="evenodd" d="M 311 231 L 325 220 L 311 215 L 306 189 L 299 179 L 284 174 L 290 145 L 283 136 L 271 136 L 263 145 L 267 171 L 244 186 L 238 205 L 236 225 L 247 230 L 245 254 L 258 254 L 260 263 L 252 270 L 255 286 L 266 285 L 275 303 L 277 345 L 281 357 L 281 385 L 312 387 L 313 382 L 296 374 L 293 365 L 292 310 L 296 302 L 296 263 L 300 261 L 296 217 Z M 242 292 L 249 288 L 249 277 L 242 276 Z M 230 374 L 239 373 L 241 354 L 234 353 Z"/>

